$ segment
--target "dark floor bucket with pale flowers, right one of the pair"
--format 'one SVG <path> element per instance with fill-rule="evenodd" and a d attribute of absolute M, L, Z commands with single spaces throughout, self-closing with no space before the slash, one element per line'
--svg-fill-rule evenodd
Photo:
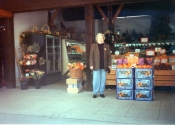
<path fill-rule="evenodd" d="M 30 76 L 35 80 L 35 88 L 40 89 L 40 80 L 44 75 L 44 71 L 38 69 L 32 69 L 29 72 Z"/>

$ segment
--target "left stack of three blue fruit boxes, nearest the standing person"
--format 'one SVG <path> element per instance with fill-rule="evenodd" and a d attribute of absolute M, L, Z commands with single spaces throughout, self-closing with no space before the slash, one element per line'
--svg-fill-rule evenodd
<path fill-rule="evenodd" d="M 116 69 L 116 97 L 120 100 L 134 99 L 134 69 L 117 68 Z"/>

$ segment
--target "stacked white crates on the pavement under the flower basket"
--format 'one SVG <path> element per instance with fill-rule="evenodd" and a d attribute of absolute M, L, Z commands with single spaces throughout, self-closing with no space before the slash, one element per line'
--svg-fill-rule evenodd
<path fill-rule="evenodd" d="M 82 82 L 83 79 L 66 79 L 66 84 L 68 85 L 67 92 L 72 94 L 81 92 L 83 90 Z"/>

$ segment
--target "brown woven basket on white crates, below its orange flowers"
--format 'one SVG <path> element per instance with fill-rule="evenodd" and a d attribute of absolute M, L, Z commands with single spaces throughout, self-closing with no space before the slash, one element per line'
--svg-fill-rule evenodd
<path fill-rule="evenodd" d="M 83 77 L 83 70 L 81 69 L 69 69 L 70 78 L 81 79 Z"/>

